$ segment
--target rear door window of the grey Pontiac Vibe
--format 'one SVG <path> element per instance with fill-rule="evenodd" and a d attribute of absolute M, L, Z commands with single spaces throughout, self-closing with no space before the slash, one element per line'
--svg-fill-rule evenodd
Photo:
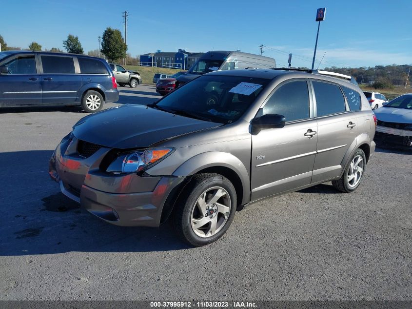
<path fill-rule="evenodd" d="M 312 82 L 316 98 L 317 117 L 346 111 L 342 91 L 336 85 L 326 82 Z"/>

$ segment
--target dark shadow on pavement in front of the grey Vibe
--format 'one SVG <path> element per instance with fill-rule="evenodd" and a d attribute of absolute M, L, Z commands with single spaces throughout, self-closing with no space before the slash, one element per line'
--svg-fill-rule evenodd
<path fill-rule="evenodd" d="M 159 228 L 118 227 L 80 208 L 50 180 L 47 169 L 52 153 L 0 153 L 1 256 L 189 248 L 169 223 Z"/>

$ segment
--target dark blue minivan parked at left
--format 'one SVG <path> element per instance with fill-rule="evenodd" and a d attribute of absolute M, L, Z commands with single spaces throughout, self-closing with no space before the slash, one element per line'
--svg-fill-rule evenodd
<path fill-rule="evenodd" d="M 103 59 L 65 53 L 0 52 L 0 107 L 81 105 L 94 113 L 118 101 Z"/>

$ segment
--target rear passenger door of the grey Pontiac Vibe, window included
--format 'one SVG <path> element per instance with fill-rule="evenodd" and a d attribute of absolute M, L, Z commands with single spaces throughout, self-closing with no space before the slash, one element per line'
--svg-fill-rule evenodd
<path fill-rule="evenodd" d="M 317 121 L 317 147 L 312 183 L 334 178 L 357 136 L 357 119 L 339 85 L 312 81 Z"/>

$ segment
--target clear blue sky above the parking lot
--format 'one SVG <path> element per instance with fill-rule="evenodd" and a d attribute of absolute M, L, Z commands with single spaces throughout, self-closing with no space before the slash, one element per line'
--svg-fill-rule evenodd
<path fill-rule="evenodd" d="M 2 14 L 0 35 L 9 46 L 38 41 L 43 48 L 63 49 L 70 33 L 87 53 L 98 48 L 107 26 L 123 32 L 121 12 L 127 10 L 128 52 L 134 56 L 178 48 L 259 53 L 264 44 L 264 55 L 278 64 L 287 64 L 292 53 L 292 65 L 310 67 L 319 7 L 327 8 L 319 68 L 412 63 L 411 0 L 3 1 L 3 13 L 18 13 Z"/>

